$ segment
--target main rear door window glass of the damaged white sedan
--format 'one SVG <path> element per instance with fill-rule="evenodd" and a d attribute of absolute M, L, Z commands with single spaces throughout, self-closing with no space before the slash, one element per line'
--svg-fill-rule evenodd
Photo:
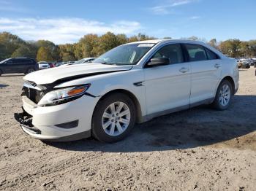
<path fill-rule="evenodd" d="M 204 47 L 197 44 L 185 44 L 189 54 L 189 61 L 206 61 L 206 51 Z"/>

